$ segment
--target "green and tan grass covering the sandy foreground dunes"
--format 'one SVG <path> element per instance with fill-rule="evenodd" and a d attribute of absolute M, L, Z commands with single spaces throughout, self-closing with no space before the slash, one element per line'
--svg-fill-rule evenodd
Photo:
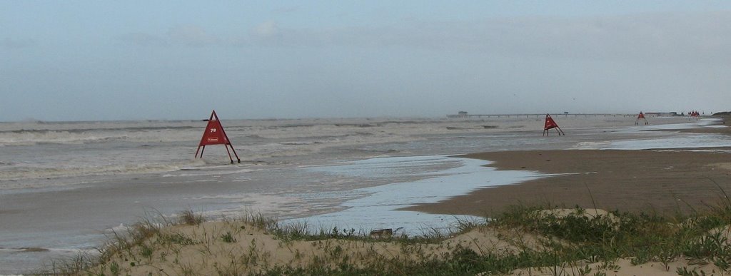
<path fill-rule="evenodd" d="M 126 233 L 113 233 L 99 253 L 53 261 L 42 274 L 49 275 L 127 275 L 130 267 L 155 266 L 156 260 L 169 261 L 186 247 L 198 246 L 199 254 L 211 253 L 216 246 L 243 242 L 246 227 L 269 234 L 279 247 L 295 248 L 295 242 L 311 242 L 322 253 L 314 256 L 295 252 L 289 263 L 272 261 L 272 253 L 262 250 L 252 239 L 241 245 L 246 250 L 230 252 L 230 261 L 215 266 L 219 275 L 494 275 L 515 269 L 548 268 L 550 275 L 605 275 L 616 269 L 616 260 L 631 260 L 633 265 L 659 263 L 666 270 L 673 261 L 686 261 L 678 275 L 703 275 L 699 266 L 727 273 L 731 269 L 731 201 L 721 197 L 720 204 L 709 205 L 690 215 L 607 212 L 575 207 L 568 214 L 553 208 L 515 206 L 488 223 L 462 221 L 459 231 L 450 234 L 394 236 L 374 239 L 355 229 L 322 229 L 308 233 L 303 224 L 282 226 L 262 215 L 244 215 L 228 221 L 235 227 L 208 230 L 193 237 L 174 231 L 171 226 L 198 226 L 202 215 L 186 210 L 177 220 L 156 216 L 135 223 Z M 550 205 L 548 205 L 550 206 Z M 204 228 L 205 230 L 205 228 Z M 513 245 L 510 250 L 477 248 L 445 243 L 450 237 L 468 231 L 497 231 Z M 512 233 L 512 234 L 510 234 Z M 526 236 L 527 235 L 527 236 Z M 534 237 L 529 245 L 523 237 Z M 521 241 L 522 240 L 522 241 Z M 363 252 L 349 253 L 352 242 Z M 398 253 L 384 253 L 379 246 L 395 245 Z M 370 247 L 370 249 L 368 249 Z M 208 251 L 208 252 L 206 252 Z M 318 251 L 320 252 L 320 251 Z M 177 261 L 177 259 L 175 260 Z M 599 264 L 589 266 L 588 264 Z M 553 269 L 553 270 L 551 270 Z M 153 275 L 198 275 L 200 267 L 179 263 L 174 272 L 159 269 Z"/>

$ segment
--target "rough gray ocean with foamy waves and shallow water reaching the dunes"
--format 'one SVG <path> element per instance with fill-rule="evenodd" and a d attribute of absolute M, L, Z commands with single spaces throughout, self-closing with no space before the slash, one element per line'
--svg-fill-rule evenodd
<path fill-rule="evenodd" d="M 397 209 L 550 177 L 452 157 L 462 153 L 731 146 L 724 135 L 672 131 L 713 119 L 554 119 L 566 136 L 542 137 L 537 115 L 221 120 L 240 164 L 223 145 L 194 158 L 201 120 L 0 123 L 0 274 L 37 271 L 141 218 L 182 210 L 211 219 L 255 212 L 313 231 L 446 231 L 461 218 Z"/>

